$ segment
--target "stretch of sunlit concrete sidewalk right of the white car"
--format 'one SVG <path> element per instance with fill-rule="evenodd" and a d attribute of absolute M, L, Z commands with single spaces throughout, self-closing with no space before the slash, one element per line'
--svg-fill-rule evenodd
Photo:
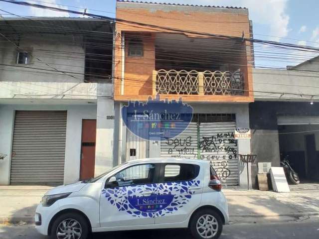
<path fill-rule="evenodd" d="M 276 193 L 223 190 L 233 223 L 289 222 L 319 216 L 319 190 Z"/>

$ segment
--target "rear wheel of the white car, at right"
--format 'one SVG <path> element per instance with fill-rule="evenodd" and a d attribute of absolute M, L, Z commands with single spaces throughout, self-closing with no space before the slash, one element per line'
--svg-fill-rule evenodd
<path fill-rule="evenodd" d="M 196 239 L 217 239 L 223 230 L 223 222 L 216 211 L 203 209 L 191 218 L 189 227 Z"/>

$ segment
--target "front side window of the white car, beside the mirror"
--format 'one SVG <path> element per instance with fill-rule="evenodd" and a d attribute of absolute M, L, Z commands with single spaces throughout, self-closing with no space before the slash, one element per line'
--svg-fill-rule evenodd
<path fill-rule="evenodd" d="M 116 181 L 121 186 L 148 184 L 154 182 L 155 164 L 139 164 L 123 169 L 115 174 Z"/>

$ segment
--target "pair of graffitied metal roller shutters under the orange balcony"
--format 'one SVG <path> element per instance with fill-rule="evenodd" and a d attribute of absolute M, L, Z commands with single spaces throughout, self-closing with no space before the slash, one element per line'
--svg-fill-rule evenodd
<path fill-rule="evenodd" d="M 209 160 L 224 184 L 238 185 L 235 126 L 235 121 L 191 122 L 178 136 L 161 140 L 160 156 Z"/>

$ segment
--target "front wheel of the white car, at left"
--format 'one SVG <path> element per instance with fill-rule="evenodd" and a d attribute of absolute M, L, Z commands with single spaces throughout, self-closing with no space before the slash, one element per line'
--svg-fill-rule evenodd
<path fill-rule="evenodd" d="M 78 213 L 58 216 L 51 228 L 51 239 L 86 239 L 89 233 L 87 220 Z"/>

